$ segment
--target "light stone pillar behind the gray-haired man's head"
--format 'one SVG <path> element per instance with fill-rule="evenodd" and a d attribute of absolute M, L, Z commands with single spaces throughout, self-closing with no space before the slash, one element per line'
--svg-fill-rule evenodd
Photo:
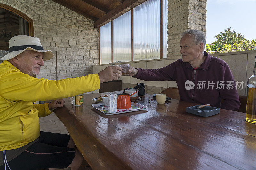
<path fill-rule="evenodd" d="M 168 0 L 168 59 L 180 58 L 180 34 L 206 31 L 206 0 Z"/>

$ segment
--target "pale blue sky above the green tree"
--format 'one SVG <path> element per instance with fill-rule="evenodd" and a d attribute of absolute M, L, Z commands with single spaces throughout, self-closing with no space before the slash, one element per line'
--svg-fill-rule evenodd
<path fill-rule="evenodd" d="M 231 27 L 246 39 L 256 39 L 256 0 L 207 0 L 206 44 Z"/>

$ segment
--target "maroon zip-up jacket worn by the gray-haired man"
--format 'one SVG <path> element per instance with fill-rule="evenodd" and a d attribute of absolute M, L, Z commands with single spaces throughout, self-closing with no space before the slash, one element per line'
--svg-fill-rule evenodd
<path fill-rule="evenodd" d="M 204 52 L 204 55 L 206 59 L 196 70 L 188 62 L 178 59 L 159 69 L 138 68 L 138 74 L 135 77 L 146 81 L 175 80 L 180 100 L 211 104 L 211 106 L 228 110 L 238 109 L 240 107 L 239 97 L 228 64 L 217 57 L 210 56 L 207 52 Z M 186 90 L 187 80 L 194 82 L 193 89 Z M 222 104 L 221 99 L 224 100 Z"/>

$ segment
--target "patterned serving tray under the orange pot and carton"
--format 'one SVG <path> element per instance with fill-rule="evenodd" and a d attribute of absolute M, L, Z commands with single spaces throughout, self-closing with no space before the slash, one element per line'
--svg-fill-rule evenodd
<path fill-rule="evenodd" d="M 117 109 L 116 113 L 108 113 L 108 106 L 105 106 L 102 103 L 97 103 L 97 104 L 92 104 L 91 106 L 94 107 L 95 109 L 99 110 L 100 112 L 104 113 L 105 115 L 115 115 L 115 114 L 120 114 L 120 113 L 127 113 L 127 112 L 132 112 L 132 111 L 138 111 L 138 110 L 145 110 L 148 108 L 147 106 L 131 102 L 132 107 L 129 109 Z"/>

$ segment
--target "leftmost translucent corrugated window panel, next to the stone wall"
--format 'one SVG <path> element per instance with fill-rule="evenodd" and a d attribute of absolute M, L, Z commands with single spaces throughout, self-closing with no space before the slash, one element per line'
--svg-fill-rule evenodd
<path fill-rule="evenodd" d="M 111 22 L 100 27 L 100 64 L 111 62 Z"/>

